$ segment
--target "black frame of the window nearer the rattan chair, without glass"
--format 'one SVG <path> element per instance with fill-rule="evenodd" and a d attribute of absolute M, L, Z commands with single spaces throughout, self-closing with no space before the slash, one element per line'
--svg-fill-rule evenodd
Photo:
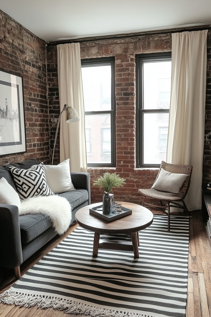
<path fill-rule="evenodd" d="M 160 164 L 144 164 L 144 113 L 169 113 L 169 109 L 143 109 L 144 61 L 171 60 L 171 52 L 136 55 L 136 168 L 160 167 Z"/>

